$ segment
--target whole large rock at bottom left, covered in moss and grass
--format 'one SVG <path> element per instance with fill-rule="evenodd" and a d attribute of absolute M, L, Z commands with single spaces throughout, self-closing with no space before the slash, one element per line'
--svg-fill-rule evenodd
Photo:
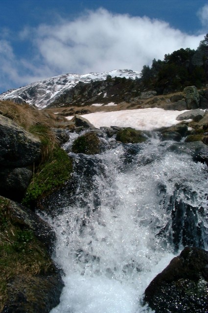
<path fill-rule="evenodd" d="M 59 303 L 60 273 L 36 236 L 36 222 L 45 237 L 49 226 L 35 215 L 0 197 L 0 312 L 45 313 Z"/>

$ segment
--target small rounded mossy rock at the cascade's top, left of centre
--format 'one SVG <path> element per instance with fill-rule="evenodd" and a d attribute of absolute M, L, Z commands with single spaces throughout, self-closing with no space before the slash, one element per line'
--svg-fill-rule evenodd
<path fill-rule="evenodd" d="M 101 150 L 101 142 L 95 132 L 87 132 L 79 136 L 71 147 L 74 153 L 84 153 L 86 155 L 99 154 Z"/>

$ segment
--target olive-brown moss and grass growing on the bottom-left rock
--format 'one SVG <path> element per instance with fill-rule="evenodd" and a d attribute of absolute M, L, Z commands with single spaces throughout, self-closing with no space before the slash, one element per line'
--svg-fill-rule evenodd
<path fill-rule="evenodd" d="M 45 247 L 31 230 L 11 218 L 9 201 L 0 197 L 0 312 L 7 299 L 7 283 L 18 274 L 52 270 Z"/>

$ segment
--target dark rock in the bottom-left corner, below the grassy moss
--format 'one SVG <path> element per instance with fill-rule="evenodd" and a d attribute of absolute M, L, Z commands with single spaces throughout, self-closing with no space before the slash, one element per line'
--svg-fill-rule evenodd
<path fill-rule="evenodd" d="M 49 313 L 59 304 L 64 284 L 60 273 L 18 275 L 8 283 L 8 300 L 2 313 Z"/>

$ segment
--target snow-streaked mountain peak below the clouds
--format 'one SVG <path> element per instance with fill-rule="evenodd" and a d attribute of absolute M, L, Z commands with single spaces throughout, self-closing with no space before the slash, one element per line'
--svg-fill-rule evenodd
<path fill-rule="evenodd" d="M 55 102 L 70 88 L 75 87 L 79 82 L 90 83 L 92 81 L 105 80 L 109 75 L 112 78 L 139 78 L 139 72 L 134 72 L 132 70 L 114 70 L 111 72 L 90 73 L 84 75 L 64 74 L 4 92 L 0 95 L 0 100 L 12 100 L 16 103 L 27 102 L 29 104 L 34 104 L 39 108 L 45 108 Z"/>

